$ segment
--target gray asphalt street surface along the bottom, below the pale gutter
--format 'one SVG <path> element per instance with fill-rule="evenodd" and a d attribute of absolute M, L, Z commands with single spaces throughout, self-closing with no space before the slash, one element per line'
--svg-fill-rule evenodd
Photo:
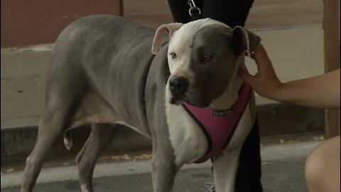
<path fill-rule="evenodd" d="M 264 192 L 305 192 L 304 160 L 291 159 L 289 161 L 270 161 L 262 166 L 262 183 Z M 76 170 L 75 170 L 76 171 Z M 173 191 L 177 192 L 205 192 L 205 182 L 212 182 L 210 168 L 185 169 L 179 172 Z M 110 192 L 150 192 L 151 174 L 131 174 L 123 176 L 102 176 L 94 178 L 95 191 Z M 18 186 L 1 188 L 3 192 L 20 191 Z M 58 181 L 42 183 L 34 188 L 36 192 L 72 192 L 80 191 L 77 181 Z"/>

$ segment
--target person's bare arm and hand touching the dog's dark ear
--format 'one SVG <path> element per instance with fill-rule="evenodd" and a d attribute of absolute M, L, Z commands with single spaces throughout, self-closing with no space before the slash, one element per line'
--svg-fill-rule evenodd
<path fill-rule="evenodd" d="M 340 69 L 313 78 L 282 83 L 264 47 L 260 45 L 254 52 L 251 58 L 255 60 L 258 72 L 250 75 L 247 68 L 242 66 L 239 75 L 259 95 L 307 107 L 340 108 Z"/>

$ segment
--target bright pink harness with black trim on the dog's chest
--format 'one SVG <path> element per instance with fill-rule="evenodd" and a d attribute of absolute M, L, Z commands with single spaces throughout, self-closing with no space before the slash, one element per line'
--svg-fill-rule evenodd
<path fill-rule="evenodd" d="M 207 161 L 207 159 L 220 154 L 222 149 L 227 146 L 247 106 L 250 92 L 250 86 L 244 83 L 239 90 L 239 97 L 229 110 L 197 108 L 184 103 L 183 107 L 205 133 L 209 144 L 205 156 L 202 156 L 195 163 Z"/>

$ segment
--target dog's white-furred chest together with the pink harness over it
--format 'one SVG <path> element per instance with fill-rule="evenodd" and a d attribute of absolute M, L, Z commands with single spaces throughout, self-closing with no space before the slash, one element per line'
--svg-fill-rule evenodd
<path fill-rule="evenodd" d="M 175 163 L 202 163 L 220 154 L 237 128 L 250 91 L 249 85 L 243 85 L 229 110 L 196 108 L 186 103 L 183 107 L 166 105 Z"/>

